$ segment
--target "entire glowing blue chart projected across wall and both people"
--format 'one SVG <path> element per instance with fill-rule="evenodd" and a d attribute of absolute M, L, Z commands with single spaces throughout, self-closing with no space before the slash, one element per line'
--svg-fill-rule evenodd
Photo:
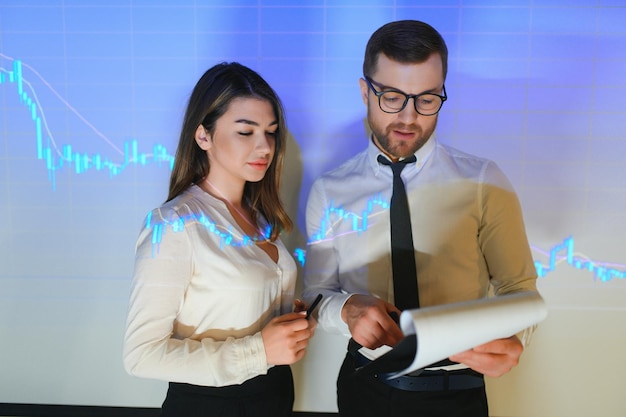
<path fill-rule="evenodd" d="M 140 153 L 138 141 L 133 139 L 125 141 L 123 149 L 120 149 L 67 102 L 37 70 L 20 60 L 11 58 L 2 53 L 0 53 L 0 58 L 12 63 L 10 69 L 0 66 L 0 85 L 15 86 L 19 102 L 27 108 L 35 127 L 37 159 L 45 161 L 48 170 L 48 179 L 52 184 L 53 190 L 56 189 L 55 173 L 61 169 L 73 169 L 76 174 L 81 174 L 92 169 L 96 171 L 106 171 L 110 177 L 117 176 L 131 165 L 146 166 L 149 163 L 156 163 L 158 165 L 166 164 L 170 170 L 172 169 L 174 156 L 168 154 L 164 146 L 157 144 L 154 145 L 152 153 Z M 122 162 L 115 162 L 97 153 L 91 155 L 80 153 L 73 150 L 71 145 L 60 146 L 48 126 L 45 111 L 39 101 L 37 92 L 28 79 L 24 77 L 24 69 L 37 77 L 71 113 L 94 133 L 94 135 L 110 146 L 122 159 Z M 335 206 L 331 201 L 330 206 L 323 213 L 318 231 L 311 236 L 308 244 L 315 244 L 327 240 L 334 225 L 346 220 L 351 223 L 351 231 L 347 233 L 361 233 L 367 230 L 368 218 L 374 212 L 374 206 L 380 206 L 386 209 L 389 207 L 389 203 L 383 200 L 380 195 L 377 195 L 368 200 L 366 208 L 361 213 L 354 213 L 346 211 L 341 206 Z M 232 234 L 232 231 L 222 230 L 206 216 L 192 216 L 181 221 L 183 221 L 183 223 L 185 221 L 195 221 L 203 224 L 207 229 L 219 234 L 220 241 L 223 245 L 245 246 L 254 243 L 254 240 L 249 237 L 236 237 Z M 163 228 L 166 226 L 167 224 L 165 223 L 153 225 L 153 239 L 155 239 L 154 244 L 157 245 L 157 248 L 158 243 L 160 243 L 160 238 L 164 233 Z M 184 227 L 184 224 L 170 226 L 174 231 L 178 231 L 181 227 Z M 336 238 L 337 236 L 334 237 Z M 607 282 L 614 278 L 626 278 L 626 265 L 624 264 L 594 261 L 586 256 L 576 254 L 574 252 L 574 239 L 572 237 L 566 238 L 562 243 L 554 246 L 547 252 L 534 246 L 533 249 L 543 253 L 548 258 L 547 264 L 541 261 L 535 261 L 535 268 L 540 278 L 553 272 L 557 265 L 561 263 L 566 263 L 575 269 L 589 271 L 593 273 L 594 280 L 601 282 Z M 298 260 L 301 265 L 304 265 L 306 251 L 302 248 L 297 248 L 293 254 L 296 260 Z"/>

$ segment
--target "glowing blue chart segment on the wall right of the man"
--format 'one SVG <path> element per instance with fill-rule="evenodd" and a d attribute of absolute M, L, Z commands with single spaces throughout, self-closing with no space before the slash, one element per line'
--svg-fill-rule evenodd
<path fill-rule="evenodd" d="M 542 252 L 536 247 L 533 249 Z M 584 255 L 577 254 L 574 251 L 574 238 L 571 236 L 552 247 L 548 252 L 544 252 L 544 255 L 548 257 L 547 265 L 535 261 L 539 278 L 545 277 L 546 274 L 554 271 L 558 264 L 564 262 L 575 269 L 593 273 L 594 280 L 601 282 L 607 282 L 614 278 L 626 278 L 626 265 L 624 264 L 594 261 Z"/>

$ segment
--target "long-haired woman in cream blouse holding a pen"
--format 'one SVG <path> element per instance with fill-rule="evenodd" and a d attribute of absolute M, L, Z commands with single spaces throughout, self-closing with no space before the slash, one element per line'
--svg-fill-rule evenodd
<path fill-rule="evenodd" d="M 296 265 L 279 239 L 286 127 L 274 90 L 238 63 L 196 84 L 166 203 L 137 248 L 124 366 L 170 381 L 162 416 L 284 416 L 290 364 L 314 322 L 298 302 Z"/>

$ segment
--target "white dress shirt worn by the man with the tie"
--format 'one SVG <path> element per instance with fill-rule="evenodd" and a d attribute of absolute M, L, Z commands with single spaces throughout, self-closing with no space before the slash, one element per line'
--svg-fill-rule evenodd
<path fill-rule="evenodd" d="M 393 174 L 366 150 L 318 178 L 306 208 L 304 299 L 324 294 L 320 328 L 349 336 L 351 294 L 393 303 L 389 202 Z M 518 198 L 495 163 L 431 137 L 402 171 L 422 307 L 535 291 Z"/>

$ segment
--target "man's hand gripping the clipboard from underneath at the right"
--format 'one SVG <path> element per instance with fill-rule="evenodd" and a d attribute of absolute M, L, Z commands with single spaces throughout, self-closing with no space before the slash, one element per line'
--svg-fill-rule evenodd
<path fill-rule="evenodd" d="M 474 349 L 450 356 L 450 360 L 460 362 L 490 377 L 499 377 L 518 363 L 524 351 L 522 342 L 517 336 L 507 339 L 496 339 L 476 346 Z"/>

